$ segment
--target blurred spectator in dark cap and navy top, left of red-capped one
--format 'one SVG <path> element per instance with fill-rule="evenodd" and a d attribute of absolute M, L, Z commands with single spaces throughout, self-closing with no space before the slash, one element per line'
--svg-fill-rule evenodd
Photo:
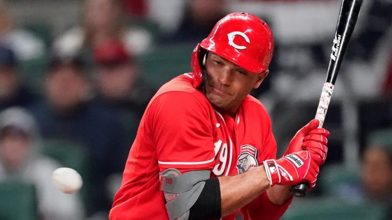
<path fill-rule="evenodd" d="M 124 129 L 116 112 L 92 101 L 85 63 L 79 58 L 53 58 L 44 77 L 46 100 L 33 108 L 43 137 L 78 141 L 86 146 L 91 161 L 91 195 L 87 214 L 110 208 L 105 181 L 121 172 Z M 117 164 L 118 163 L 118 164 Z"/>

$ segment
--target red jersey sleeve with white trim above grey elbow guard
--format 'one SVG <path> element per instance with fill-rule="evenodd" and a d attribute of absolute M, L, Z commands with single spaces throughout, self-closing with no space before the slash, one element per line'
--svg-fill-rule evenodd
<path fill-rule="evenodd" d="M 149 124 L 160 172 L 212 169 L 213 131 L 206 100 L 187 92 L 162 94 L 152 103 Z"/>

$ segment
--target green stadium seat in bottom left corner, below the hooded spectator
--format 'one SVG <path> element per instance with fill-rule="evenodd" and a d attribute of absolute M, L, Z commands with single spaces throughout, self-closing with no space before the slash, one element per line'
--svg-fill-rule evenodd
<path fill-rule="evenodd" d="M 19 181 L 0 182 L 0 219 L 38 220 L 34 185 Z"/>

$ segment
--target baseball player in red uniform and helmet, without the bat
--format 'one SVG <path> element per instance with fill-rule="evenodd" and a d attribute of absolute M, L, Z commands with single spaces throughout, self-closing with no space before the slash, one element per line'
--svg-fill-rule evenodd
<path fill-rule="evenodd" d="M 284 157 L 264 106 L 249 95 L 268 74 L 273 36 L 247 13 L 216 23 L 192 72 L 163 85 L 140 122 L 109 217 L 278 219 L 292 185 L 315 185 L 329 132 L 312 120 Z"/>

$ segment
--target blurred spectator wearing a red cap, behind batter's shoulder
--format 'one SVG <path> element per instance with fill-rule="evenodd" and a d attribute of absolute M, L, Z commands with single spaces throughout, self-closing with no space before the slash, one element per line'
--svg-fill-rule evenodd
<path fill-rule="evenodd" d="M 122 116 L 127 143 L 132 145 L 144 109 L 154 90 L 141 78 L 137 60 L 121 41 L 109 40 L 94 47 L 97 65 L 96 87 L 99 99 Z M 125 155 L 128 150 L 125 148 Z"/>

